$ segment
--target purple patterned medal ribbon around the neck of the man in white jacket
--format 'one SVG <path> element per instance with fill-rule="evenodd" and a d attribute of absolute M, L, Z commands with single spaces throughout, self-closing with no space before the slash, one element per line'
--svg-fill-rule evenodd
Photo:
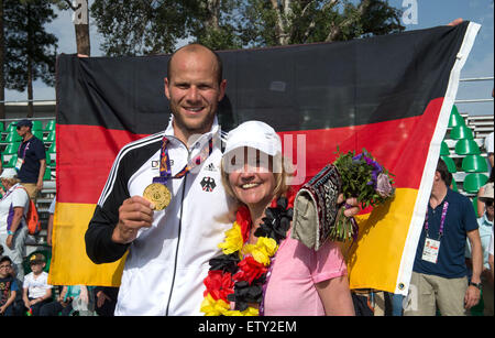
<path fill-rule="evenodd" d="M 167 150 L 168 142 L 168 139 L 164 137 L 162 141 L 162 150 L 160 152 L 160 176 L 153 177 L 153 183 L 166 184 L 168 178 L 172 177 L 170 159 Z M 172 178 L 184 177 L 190 170 L 200 165 L 206 159 L 208 159 L 212 151 L 213 138 L 210 138 L 199 154 L 195 156 L 193 161 L 189 161 L 186 166 Z"/>

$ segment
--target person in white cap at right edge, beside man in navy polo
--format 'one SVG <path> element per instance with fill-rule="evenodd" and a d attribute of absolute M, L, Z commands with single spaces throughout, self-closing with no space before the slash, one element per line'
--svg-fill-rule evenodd
<path fill-rule="evenodd" d="M 493 316 L 493 275 L 490 272 L 488 263 L 488 247 L 493 233 L 493 218 L 494 218 L 494 184 L 488 183 L 484 186 L 484 193 L 480 196 L 482 203 L 486 205 L 486 211 L 477 219 L 480 226 L 480 237 L 483 248 L 483 272 L 481 275 L 483 286 L 483 301 L 485 304 L 485 316 Z M 471 258 L 471 247 L 468 242 L 466 257 Z"/>

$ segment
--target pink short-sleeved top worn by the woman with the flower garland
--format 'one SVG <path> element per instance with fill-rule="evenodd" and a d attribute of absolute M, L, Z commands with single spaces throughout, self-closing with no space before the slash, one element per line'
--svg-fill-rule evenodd
<path fill-rule="evenodd" d="M 265 316 L 324 316 L 316 283 L 345 275 L 339 246 L 327 241 L 318 250 L 287 238 L 280 243 L 265 294 Z"/>

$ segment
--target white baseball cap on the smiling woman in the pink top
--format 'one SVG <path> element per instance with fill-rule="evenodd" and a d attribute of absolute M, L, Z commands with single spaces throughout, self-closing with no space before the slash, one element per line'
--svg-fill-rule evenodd
<path fill-rule="evenodd" d="M 282 154 L 282 141 L 275 130 L 261 121 L 248 121 L 232 129 L 227 135 L 224 153 L 249 146 L 271 156 Z"/>

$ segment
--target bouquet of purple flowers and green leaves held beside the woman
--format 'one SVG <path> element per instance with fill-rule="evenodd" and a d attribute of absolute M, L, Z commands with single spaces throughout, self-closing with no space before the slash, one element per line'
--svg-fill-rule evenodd
<path fill-rule="evenodd" d="M 333 162 L 342 179 L 342 194 L 344 199 L 350 197 L 358 198 L 358 203 L 362 208 L 369 206 L 376 207 L 395 194 L 392 186 L 394 176 L 384 168 L 375 159 L 365 150 L 360 154 L 355 152 L 340 153 Z M 350 206 L 345 206 L 350 207 Z M 358 223 L 353 217 L 345 217 L 340 211 L 336 226 L 330 232 L 330 239 L 334 241 L 346 241 L 358 238 Z"/>

